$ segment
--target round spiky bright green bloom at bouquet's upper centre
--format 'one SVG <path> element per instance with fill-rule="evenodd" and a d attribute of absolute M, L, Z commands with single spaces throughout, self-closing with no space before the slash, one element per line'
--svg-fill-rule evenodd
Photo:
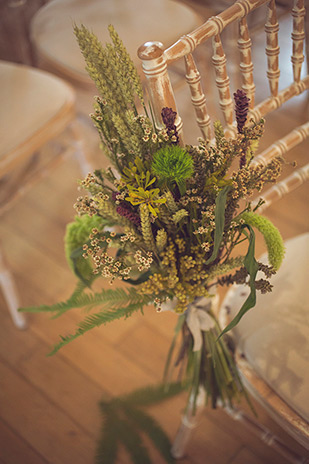
<path fill-rule="evenodd" d="M 153 156 L 152 170 L 162 184 L 177 184 L 183 195 L 186 180 L 193 174 L 193 159 L 186 150 L 173 145 L 161 148 Z"/>

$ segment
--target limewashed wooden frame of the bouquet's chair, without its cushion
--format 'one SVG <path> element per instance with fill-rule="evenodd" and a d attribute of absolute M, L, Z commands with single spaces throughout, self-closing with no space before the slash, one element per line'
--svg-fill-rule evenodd
<path fill-rule="evenodd" d="M 265 78 L 269 84 L 269 96 L 265 98 L 266 92 L 264 92 L 263 98 L 261 98 L 260 101 L 255 102 L 256 92 L 255 82 L 253 79 L 252 46 L 248 28 L 248 18 L 250 17 L 250 13 L 258 8 L 261 8 L 261 11 L 264 9 L 266 14 L 265 34 L 267 67 Z M 221 40 L 221 36 L 226 28 L 233 26 L 235 22 L 238 23 L 239 75 L 242 80 L 242 89 L 250 98 L 249 117 L 258 121 L 261 117 L 267 115 L 270 117 L 271 113 L 278 110 L 284 104 L 291 104 L 292 100 L 297 102 L 295 97 L 303 94 L 309 88 L 309 75 L 306 74 L 307 71 L 302 68 L 302 64 L 304 62 L 305 43 L 304 16 L 304 0 L 294 0 L 293 7 L 291 9 L 291 19 L 293 23 L 291 40 L 293 75 L 292 82 L 286 82 L 287 79 L 286 76 L 284 76 L 283 88 L 279 87 L 279 24 L 277 20 L 275 0 L 238 0 L 231 7 L 227 8 L 217 16 L 210 18 L 205 24 L 195 29 L 193 32 L 180 37 L 179 40 L 169 48 L 164 48 L 160 42 L 147 42 L 142 45 L 139 48 L 138 55 L 142 60 L 143 71 L 148 82 L 148 93 L 153 107 L 157 127 L 163 127 L 161 119 L 162 108 L 172 108 L 177 112 L 175 123 L 180 136 L 180 143 L 185 144 L 186 124 L 190 125 L 191 122 L 188 118 L 184 120 L 184 123 L 182 121 L 168 72 L 169 66 L 172 63 L 178 63 L 183 60 L 195 119 L 199 126 L 201 136 L 204 139 L 213 138 L 212 119 L 208 111 L 208 103 L 210 102 L 210 105 L 213 105 L 213 102 L 211 100 L 206 102 L 206 97 L 202 89 L 202 77 L 204 76 L 201 76 L 193 57 L 193 53 L 195 53 L 199 47 L 205 46 L 211 41 L 213 49 L 212 67 L 215 75 L 215 85 L 211 87 L 211 92 L 214 92 L 215 87 L 217 88 L 219 106 L 223 114 L 226 135 L 230 136 L 236 133 L 236 124 L 233 116 L 234 104 L 231 98 L 232 92 L 227 72 L 228 62 L 224 52 L 223 41 Z M 285 50 L 283 51 L 285 52 Z M 204 83 L 206 82 L 207 86 L 212 85 L 210 67 L 211 64 L 208 64 L 208 68 L 206 69 L 207 76 L 204 80 Z M 261 80 L 260 74 L 257 77 Z M 233 90 L 236 91 L 236 88 Z M 263 94 L 263 91 L 260 93 Z M 274 116 L 274 118 L 278 117 L 277 114 L 279 115 L 279 112 L 275 113 L 276 116 Z M 218 115 L 216 115 L 216 119 L 219 119 Z M 278 119 L 278 121 L 280 121 L 280 119 Z M 279 124 L 280 122 L 278 125 Z M 292 131 L 289 130 L 288 133 L 286 133 L 285 127 L 280 127 L 280 131 L 282 133 L 280 140 L 274 141 L 271 146 L 265 147 L 262 153 L 255 158 L 255 163 L 266 163 L 275 156 L 285 155 L 289 150 L 303 142 L 309 136 L 308 119 L 304 120 L 304 123 L 301 126 L 293 128 Z M 264 208 L 275 200 L 280 199 L 284 194 L 302 185 L 307 179 L 309 179 L 309 164 L 306 164 L 306 160 L 302 160 L 300 168 L 297 170 L 295 169 L 286 179 L 278 183 L 263 195 L 265 199 Z M 240 306 L 238 305 L 237 307 L 239 308 Z M 253 384 L 252 388 L 257 390 L 257 385 L 260 385 L 262 380 L 256 373 L 255 366 L 251 364 L 249 365 L 248 362 L 245 363 L 243 357 L 239 357 L 239 366 L 247 379 L 247 383 Z M 253 379 L 258 380 L 255 381 Z M 265 381 L 263 382 L 265 384 Z M 267 388 L 269 391 L 269 387 Z M 264 388 L 264 393 L 267 388 Z M 257 393 L 257 396 L 263 398 L 264 403 L 269 402 L 269 404 L 271 404 L 270 396 L 265 395 L 264 393 L 262 389 L 262 391 Z M 277 393 L 276 398 L 276 412 L 278 415 L 282 416 L 282 414 L 284 414 L 283 408 L 281 407 L 282 403 L 280 403 L 281 400 L 278 399 Z M 201 408 L 204 404 L 203 400 L 202 392 L 198 399 L 198 402 L 201 404 Z M 272 404 L 274 404 L 274 401 Z M 292 410 L 293 406 L 286 404 L 286 408 Z M 235 417 L 237 416 L 238 418 L 246 420 L 247 424 L 254 422 L 243 413 L 236 413 L 235 411 L 230 412 Z M 296 439 L 299 439 L 301 435 L 301 443 L 308 446 L 309 427 L 307 421 L 302 418 L 299 413 L 286 414 L 286 419 L 290 425 L 289 432 L 292 433 Z M 282 422 L 284 421 L 282 420 Z M 190 430 L 194 427 L 195 423 L 196 418 L 192 417 L 192 414 L 190 414 L 189 411 L 183 418 L 182 425 L 178 431 L 172 448 L 172 452 L 175 457 L 179 458 L 183 456 L 186 442 L 190 435 Z M 266 436 L 263 427 L 257 423 L 255 423 L 253 428 L 256 431 L 263 432 L 264 436 Z M 297 428 L 298 430 L 296 430 Z M 300 434 L 300 429 L 303 429 L 302 434 Z M 291 430 L 293 430 L 293 432 L 291 432 Z M 275 441 L 271 435 L 268 435 L 268 438 L 269 444 L 272 444 L 273 446 L 277 445 L 278 441 Z M 286 450 L 286 447 L 282 443 L 278 449 L 280 451 L 283 450 L 286 457 L 290 458 L 292 462 L 307 462 L 305 458 L 295 457 L 293 453 L 289 454 L 289 451 Z"/>

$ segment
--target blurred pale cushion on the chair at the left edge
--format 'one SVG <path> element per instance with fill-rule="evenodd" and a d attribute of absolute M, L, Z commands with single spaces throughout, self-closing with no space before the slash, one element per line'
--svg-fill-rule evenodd
<path fill-rule="evenodd" d="M 65 82 L 46 72 L 0 61 L 0 170 L 6 170 L 9 154 L 23 146 L 35 149 L 30 143 L 35 137 L 47 137 L 51 120 L 73 108 L 74 93 Z M 54 121 L 53 126 L 58 122 Z M 60 122 L 59 122 L 60 124 Z M 58 124 L 58 125 L 59 125 Z M 51 128 L 50 128 L 51 130 Z M 40 140 L 42 144 L 42 140 Z"/>

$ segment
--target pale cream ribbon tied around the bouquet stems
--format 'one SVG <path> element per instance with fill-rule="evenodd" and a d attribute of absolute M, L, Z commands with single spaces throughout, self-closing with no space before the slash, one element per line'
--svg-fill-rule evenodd
<path fill-rule="evenodd" d="M 193 337 L 193 351 L 199 351 L 203 344 L 203 334 L 215 326 L 214 319 L 209 315 L 210 309 L 216 310 L 219 302 L 218 295 L 212 298 L 196 298 L 188 305 L 186 310 L 186 322 Z M 175 299 L 163 303 L 161 311 L 172 311 L 176 306 Z"/>

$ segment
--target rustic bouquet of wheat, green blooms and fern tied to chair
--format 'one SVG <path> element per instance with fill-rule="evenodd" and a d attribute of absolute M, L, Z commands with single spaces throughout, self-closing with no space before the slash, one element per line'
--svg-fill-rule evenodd
<path fill-rule="evenodd" d="M 112 26 L 105 47 L 84 26 L 75 27 L 87 70 L 100 96 L 91 118 L 110 160 L 81 181 L 87 194 L 68 225 L 65 251 L 79 278 L 73 295 L 52 306 L 24 308 L 59 316 L 72 308 L 88 314 L 52 353 L 94 327 L 137 311 L 169 309 L 178 317 L 164 378 L 178 369 L 195 405 L 200 387 L 216 407 L 232 405 L 244 389 L 226 333 L 255 305 L 256 291 L 271 291 L 284 247 L 277 229 L 249 201 L 278 178 L 282 160 L 251 161 L 264 121 L 247 121 L 249 100 L 234 94 L 237 135 L 226 138 L 220 122 L 214 140 L 180 146 L 176 113 L 162 108 L 163 129 L 152 121 L 137 71 Z M 255 229 L 265 238 L 269 265 L 255 259 Z M 245 255 L 238 245 L 247 243 Z M 265 277 L 257 279 L 257 272 Z M 113 286 L 92 290 L 96 279 Z M 127 285 L 114 288 L 116 280 Z M 223 330 L 215 310 L 216 288 L 247 284 L 250 294 Z M 149 307 L 148 307 L 149 306 Z M 158 315 L 160 317 L 160 315 Z"/>

